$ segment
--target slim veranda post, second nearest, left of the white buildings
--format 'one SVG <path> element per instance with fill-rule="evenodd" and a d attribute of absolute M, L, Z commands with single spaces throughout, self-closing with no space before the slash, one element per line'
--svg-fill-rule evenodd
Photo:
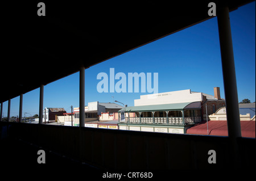
<path fill-rule="evenodd" d="M 85 102 L 85 70 L 84 67 L 80 69 L 80 82 L 79 82 L 79 126 L 84 127 L 84 102 Z"/>

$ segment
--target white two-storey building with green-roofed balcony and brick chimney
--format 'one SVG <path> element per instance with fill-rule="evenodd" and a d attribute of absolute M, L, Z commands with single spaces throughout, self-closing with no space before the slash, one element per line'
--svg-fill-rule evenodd
<path fill-rule="evenodd" d="M 141 95 L 134 106 L 119 111 L 129 112 L 123 120 L 119 117 L 119 129 L 133 131 L 185 133 L 188 128 L 201 122 L 205 115 L 225 105 L 220 98 L 220 88 L 214 87 L 214 96 L 190 89 Z M 130 113 L 135 113 L 134 117 Z"/>

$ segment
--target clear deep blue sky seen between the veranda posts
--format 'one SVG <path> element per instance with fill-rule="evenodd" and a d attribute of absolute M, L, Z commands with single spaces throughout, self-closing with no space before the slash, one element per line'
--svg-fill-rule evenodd
<path fill-rule="evenodd" d="M 238 100 L 255 102 L 255 2 L 230 12 Z M 74 60 L 75 61 L 75 60 Z M 213 95 L 220 87 L 224 95 L 217 18 L 197 24 L 163 39 L 121 54 L 85 70 L 85 104 L 118 100 L 134 106 L 134 99 L 146 93 L 99 93 L 97 74 L 110 68 L 115 73 L 158 73 L 158 92 L 191 89 Z M 118 82 L 117 80 L 115 83 Z M 140 90 L 141 91 L 141 90 Z M 7 116 L 7 102 L 3 112 Z M 79 73 L 44 87 L 44 107 L 79 107 Z M 23 95 L 23 115 L 39 112 L 39 89 Z M 19 97 L 11 99 L 11 116 L 19 114 Z M 28 116 L 29 114 L 27 114 Z"/>

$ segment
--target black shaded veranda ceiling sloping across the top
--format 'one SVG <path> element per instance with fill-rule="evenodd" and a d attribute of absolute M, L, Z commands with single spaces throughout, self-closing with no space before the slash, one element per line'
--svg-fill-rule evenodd
<path fill-rule="evenodd" d="M 2 3 L 0 102 L 212 18 L 209 2 Z M 235 10 L 251 1 L 220 2 Z"/>

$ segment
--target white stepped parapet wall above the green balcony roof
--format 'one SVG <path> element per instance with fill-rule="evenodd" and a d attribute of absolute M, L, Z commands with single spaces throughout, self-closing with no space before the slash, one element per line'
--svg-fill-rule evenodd
<path fill-rule="evenodd" d="M 141 95 L 141 99 L 134 100 L 134 106 L 197 102 L 202 100 L 202 92 L 191 93 L 191 90 L 187 89 L 180 91 L 163 92 L 159 94 Z"/>

